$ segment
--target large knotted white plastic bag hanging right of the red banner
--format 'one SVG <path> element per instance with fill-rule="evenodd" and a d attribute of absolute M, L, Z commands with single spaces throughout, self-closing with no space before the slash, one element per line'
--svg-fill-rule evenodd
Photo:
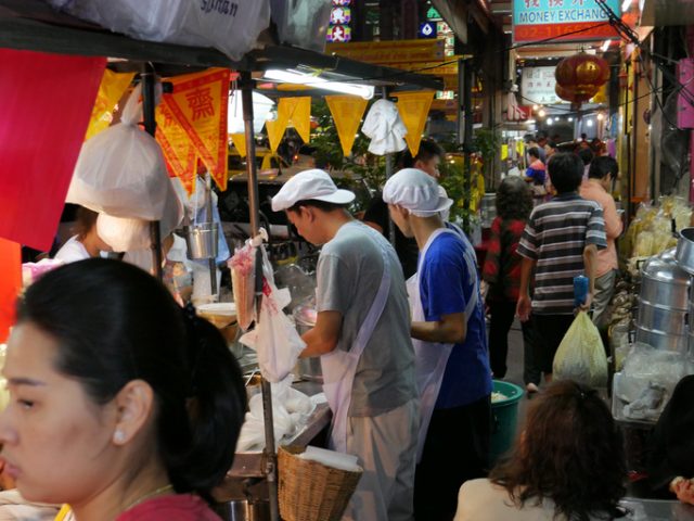
<path fill-rule="evenodd" d="M 170 190 L 166 162 L 155 139 L 138 127 L 140 87 L 121 122 L 82 144 L 66 202 L 114 217 L 159 220 Z"/>

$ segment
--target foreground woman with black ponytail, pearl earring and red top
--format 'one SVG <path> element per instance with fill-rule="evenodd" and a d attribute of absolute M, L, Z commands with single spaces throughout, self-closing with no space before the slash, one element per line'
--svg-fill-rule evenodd
<path fill-rule="evenodd" d="M 218 519 L 203 499 L 231 468 L 245 411 L 217 329 L 141 269 L 93 258 L 17 306 L 0 415 L 7 471 L 78 521 Z"/>

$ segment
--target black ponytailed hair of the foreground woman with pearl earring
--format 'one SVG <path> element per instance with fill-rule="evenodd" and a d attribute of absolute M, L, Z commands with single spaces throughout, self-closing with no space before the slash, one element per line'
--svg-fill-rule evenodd
<path fill-rule="evenodd" d="M 18 301 L 17 322 L 56 340 L 55 369 L 97 404 L 131 380 L 149 383 L 171 484 L 210 499 L 233 462 L 246 409 L 241 369 L 213 325 L 181 309 L 147 272 L 102 258 L 44 275 Z"/>

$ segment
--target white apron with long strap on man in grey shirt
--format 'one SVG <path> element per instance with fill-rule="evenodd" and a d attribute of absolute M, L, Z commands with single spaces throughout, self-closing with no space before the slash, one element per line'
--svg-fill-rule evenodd
<path fill-rule="evenodd" d="M 369 229 L 371 233 L 371 229 Z M 375 230 L 373 233 L 377 233 Z M 349 351 L 336 347 L 326 355 L 321 356 L 323 370 L 323 391 L 327 404 L 333 411 L 333 424 L 330 435 L 329 448 L 338 453 L 347 452 L 347 411 L 351 403 L 351 387 L 355 373 L 359 365 L 359 358 L 369 343 L 373 330 L 386 307 L 390 291 L 390 260 L 385 244 L 375 241 L 383 255 L 383 277 L 378 285 L 378 292 L 371 304 L 369 314 L 359 328 L 355 343 Z"/>

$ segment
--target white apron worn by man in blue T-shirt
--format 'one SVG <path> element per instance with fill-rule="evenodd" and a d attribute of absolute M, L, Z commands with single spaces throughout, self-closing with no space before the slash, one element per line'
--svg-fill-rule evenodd
<path fill-rule="evenodd" d="M 410 308 L 412 310 L 412 321 L 426 321 L 424 309 L 422 307 L 422 298 L 420 296 L 420 271 L 424 265 L 426 253 L 428 252 L 429 246 L 434 243 L 434 240 L 436 240 L 436 238 L 441 233 L 452 233 L 465 243 L 466 250 L 470 249 L 467 251 L 474 251 L 463 231 L 457 226 L 452 226 L 452 230 L 449 228 L 439 228 L 432 233 L 428 241 L 426 241 L 424 250 L 420 253 L 416 274 L 408 279 L 407 287 L 408 295 L 410 297 Z M 467 264 L 468 277 L 472 279 L 473 283 L 473 291 L 470 301 L 465 306 L 465 318 L 470 321 L 470 317 L 475 310 L 475 306 L 478 302 L 479 282 L 477 280 L 477 267 L 475 266 L 475 260 L 471 258 L 470 255 L 465 255 L 465 263 Z M 453 351 L 454 344 L 424 342 L 416 339 L 412 339 L 412 344 L 414 345 L 414 368 L 416 372 L 416 387 L 420 393 L 420 410 L 422 414 L 416 447 L 416 461 L 419 463 L 422 459 L 424 442 L 429 429 L 429 422 L 432 421 L 432 415 L 434 414 L 434 406 L 436 405 L 438 392 L 440 391 L 441 382 L 444 381 L 446 364 L 448 364 L 448 358 Z"/>

